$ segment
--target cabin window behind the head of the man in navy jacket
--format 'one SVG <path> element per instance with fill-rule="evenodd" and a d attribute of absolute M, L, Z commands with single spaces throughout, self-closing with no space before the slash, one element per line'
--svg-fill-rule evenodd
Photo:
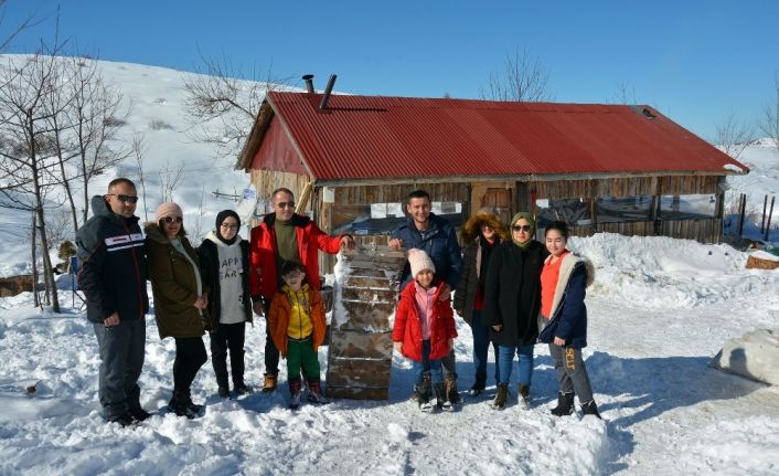
<path fill-rule="evenodd" d="M 405 211 L 405 202 L 337 205 L 332 213 L 333 233 L 392 234 L 406 220 Z M 462 203 L 433 202 L 431 211 L 456 229 L 462 226 Z"/>

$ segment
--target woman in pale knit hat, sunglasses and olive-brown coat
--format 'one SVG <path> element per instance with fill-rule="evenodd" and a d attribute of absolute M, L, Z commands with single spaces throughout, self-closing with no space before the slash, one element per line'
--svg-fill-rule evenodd
<path fill-rule="evenodd" d="M 181 207 L 162 203 L 156 219 L 157 223 L 147 223 L 143 231 L 157 328 L 160 339 L 175 339 L 173 396 L 169 408 L 179 416 L 193 419 L 202 409 L 192 402 L 190 387 L 207 360 L 203 334 L 210 328 L 209 295 L 198 254 L 185 236 Z"/>

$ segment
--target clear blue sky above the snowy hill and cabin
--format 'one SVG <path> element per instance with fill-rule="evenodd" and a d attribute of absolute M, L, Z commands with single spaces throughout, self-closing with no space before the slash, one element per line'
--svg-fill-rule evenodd
<path fill-rule="evenodd" d="M 627 86 L 706 139 L 729 113 L 758 120 L 779 74 L 775 0 L 8 0 L 0 33 L 49 15 L 8 52 L 51 40 L 57 6 L 61 38 L 104 60 L 191 71 L 200 49 L 319 88 L 335 73 L 354 94 L 477 98 L 527 49 L 555 101 L 619 103 Z"/>

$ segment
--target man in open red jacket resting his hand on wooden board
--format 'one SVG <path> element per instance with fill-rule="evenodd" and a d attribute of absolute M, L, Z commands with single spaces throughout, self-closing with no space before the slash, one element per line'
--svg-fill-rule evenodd
<path fill-rule="evenodd" d="M 342 247 L 354 245 L 350 235 L 330 236 L 308 216 L 295 213 L 295 197 L 289 189 L 274 190 L 270 203 L 274 212 L 252 229 L 249 283 L 254 311 L 258 316 L 270 308 L 270 299 L 284 284 L 279 276 L 284 262 L 302 264 L 309 286 L 319 289 L 319 250 L 335 254 Z M 278 361 L 279 351 L 266 322 L 265 393 L 276 390 Z"/>

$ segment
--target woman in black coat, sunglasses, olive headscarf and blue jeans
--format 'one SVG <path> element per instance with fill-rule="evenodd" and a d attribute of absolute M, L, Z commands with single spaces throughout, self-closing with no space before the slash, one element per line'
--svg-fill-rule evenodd
<path fill-rule="evenodd" d="M 538 337 L 541 271 L 548 252 L 534 240 L 535 220 L 527 212 L 511 219 L 511 240 L 492 252 L 484 281 L 484 322 L 490 340 L 498 343 L 498 393 L 493 406 L 505 408 L 514 356 L 519 360 L 519 395 L 530 408 L 533 345 Z"/>

